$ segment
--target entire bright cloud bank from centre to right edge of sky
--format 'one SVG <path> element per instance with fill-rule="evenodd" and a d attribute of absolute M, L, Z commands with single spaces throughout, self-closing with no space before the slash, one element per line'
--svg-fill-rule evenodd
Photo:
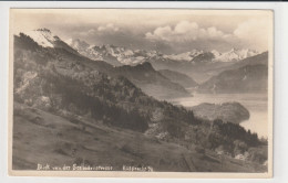
<path fill-rule="evenodd" d="M 158 26 L 147 32 L 145 39 L 178 46 L 205 43 L 207 49 L 223 46 L 266 51 L 271 30 L 269 23 L 269 19 L 265 17 L 254 18 L 239 22 L 232 32 L 224 32 L 216 26 L 202 28 L 197 22 L 181 21 L 175 26 Z M 212 43 L 215 43 L 216 47 L 210 47 Z"/>

